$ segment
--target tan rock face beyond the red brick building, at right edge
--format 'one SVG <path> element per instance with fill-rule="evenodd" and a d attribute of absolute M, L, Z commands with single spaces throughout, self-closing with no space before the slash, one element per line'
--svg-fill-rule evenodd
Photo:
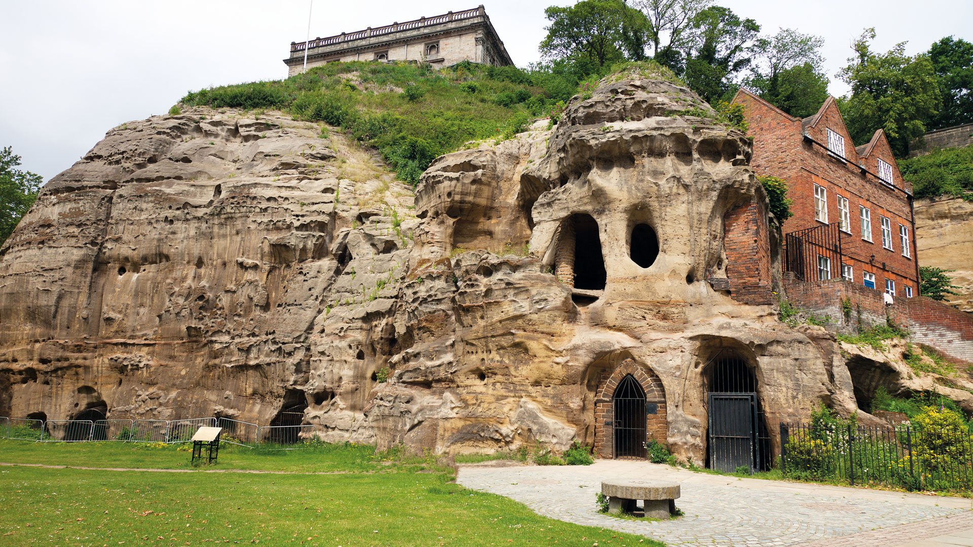
<path fill-rule="evenodd" d="M 955 270 L 955 296 L 946 302 L 973 311 L 973 202 L 960 198 L 916 201 L 916 248 L 919 266 Z"/>

